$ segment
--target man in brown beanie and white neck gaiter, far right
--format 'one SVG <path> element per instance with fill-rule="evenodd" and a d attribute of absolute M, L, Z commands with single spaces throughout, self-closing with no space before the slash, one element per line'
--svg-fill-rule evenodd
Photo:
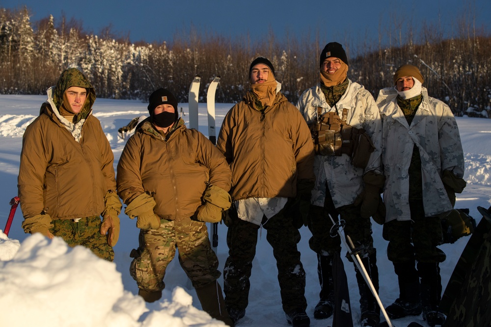
<path fill-rule="evenodd" d="M 441 325 L 439 263 L 445 253 L 440 217 L 465 187 L 459 129 L 448 105 L 428 96 L 413 65 L 394 74 L 392 87 L 377 97 L 382 120 L 382 158 L 386 176 L 383 238 L 399 281 L 399 298 L 386 308 L 396 319 L 420 315 Z M 416 264 L 417 262 L 417 264 Z"/>

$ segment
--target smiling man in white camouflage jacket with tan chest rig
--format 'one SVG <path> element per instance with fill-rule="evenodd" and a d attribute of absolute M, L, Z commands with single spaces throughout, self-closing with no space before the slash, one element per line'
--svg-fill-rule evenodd
<path fill-rule="evenodd" d="M 326 319 L 332 315 L 335 302 L 336 281 L 333 281 L 332 262 L 334 256 L 341 252 L 341 240 L 329 235 L 332 223 L 328 215 L 335 221 L 340 216 L 346 222 L 344 231 L 353 240 L 375 289 L 378 291 L 379 288 L 377 252 L 373 247 L 370 217 L 375 216 L 379 205 L 382 205 L 379 200 L 383 187 L 382 121 L 370 92 L 347 77 L 348 58 L 339 43 L 330 42 L 325 46 L 319 66 L 319 83 L 303 92 L 297 108 L 311 126 L 317 145 L 314 159 L 316 182 L 308 227 L 312 232 L 309 245 L 317 253 L 321 284 L 320 301 L 314 309 L 314 317 Z M 370 138 L 371 152 L 356 154 L 353 150 L 353 140 L 356 139 L 353 131 L 360 129 L 365 130 L 364 135 Z M 321 135 L 326 136 L 321 138 Z M 369 141 L 368 138 L 365 140 Z M 358 159 L 362 159 L 360 161 L 364 164 L 359 164 Z M 361 326 L 375 326 L 380 321 L 380 308 L 363 274 L 356 266 L 355 270 L 360 293 Z"/>

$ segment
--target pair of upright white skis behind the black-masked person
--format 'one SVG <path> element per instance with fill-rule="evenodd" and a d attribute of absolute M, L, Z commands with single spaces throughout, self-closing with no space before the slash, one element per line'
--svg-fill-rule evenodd
<path fill-rule="evenodd" d="M 214 144 L 217 144 L 217 133 L 215 126 L 215 93 L 217 91 L 220 76 L 213 78 L 206 92 L 206 109 L 208 116 L 208 139 Z M 189 128 L 198 130 L 198 92 L 201 84 L 201 77 L 194 76 L 189 88 Z M 212 230 L 212 247 L 218 247 L 218 223 L 210 223 Z"/>

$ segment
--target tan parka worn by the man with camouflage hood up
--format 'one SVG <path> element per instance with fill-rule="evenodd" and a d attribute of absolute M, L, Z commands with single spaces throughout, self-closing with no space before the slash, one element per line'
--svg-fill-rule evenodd
<path fill-rule="evenodd" d="M 91 107 L 95 95 L 87 99 Z M 18 188 L 26 219 L 42 211 L 52 219 L 99 216 L 104 196 L 116 190 L 114 156 L 99 120 L 91 113 L 82 120 L 79 143 L 59 117 L 50 88 L 23 137 Z"/>

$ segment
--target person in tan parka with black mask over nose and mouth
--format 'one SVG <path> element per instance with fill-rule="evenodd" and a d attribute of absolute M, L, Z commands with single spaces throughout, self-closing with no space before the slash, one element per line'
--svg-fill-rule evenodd
<path fill-rule="evenodd" d="M 136 126 L 117 167 L 118 194 L 128 205 L 125 213 L 137 217 L 140 228 L 130 274 L 146 302 L 159 300 L 177 248 L 203 310 L 233 326 L 206 228 L 206 222 L 219 222 L 230 207 L 230 168 L 211 141 L 179 119 L 171 92 L 153 92 L 148 111 L 150 117 Z"/>

